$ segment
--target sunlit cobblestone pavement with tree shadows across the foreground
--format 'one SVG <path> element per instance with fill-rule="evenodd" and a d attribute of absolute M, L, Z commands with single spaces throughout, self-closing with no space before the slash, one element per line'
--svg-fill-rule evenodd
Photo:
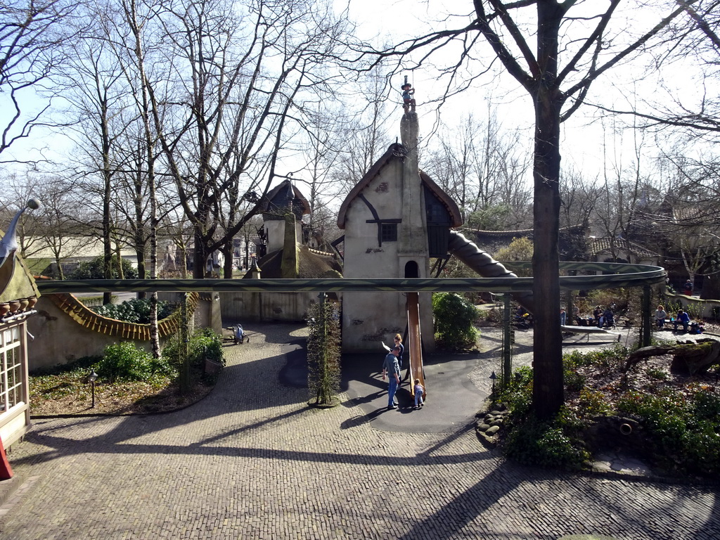
<path fill-rule="evenodd" d="M 472 426 L 392 433 L 353 402 L 281 387 L 297 326 L 248 325 L 202 402 L 38 420 L 10 454 L 33 484 L 0 523 L 25 539 L 720 538 L 718 490 L 508 464 Z M 428 407 L 430 405 L 428 404 Z"/>

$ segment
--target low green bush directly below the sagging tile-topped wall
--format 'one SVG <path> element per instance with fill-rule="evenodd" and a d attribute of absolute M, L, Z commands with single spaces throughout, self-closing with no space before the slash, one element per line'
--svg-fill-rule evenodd
<path fill-rule="evenodd" d="M 98 364 L 98 375 L 110 382 L 146 381 L 153 374 L 168 374 L 171 371 L 165 361 L 153 359 L 152 354 L 127 341 L 105 347 Z"/>

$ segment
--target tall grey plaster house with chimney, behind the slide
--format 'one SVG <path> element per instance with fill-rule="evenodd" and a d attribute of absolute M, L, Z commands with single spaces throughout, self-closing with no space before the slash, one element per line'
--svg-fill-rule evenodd
<path fill-rule="evenodd" d="M 343 201 L 338 227 L 346 278 L 426 278 L 430 258 L 448 253 L 450 229 L 462 225 L 455 202 L 418 168 L 418 115 L 404 114 L 402 144 L 392 144 Z M 419 295 L 423 348 L 435 349 L 431 293 Z M 403 334 L 407 295 L 343 293 L 343 351 L 379 351 Z"/>

